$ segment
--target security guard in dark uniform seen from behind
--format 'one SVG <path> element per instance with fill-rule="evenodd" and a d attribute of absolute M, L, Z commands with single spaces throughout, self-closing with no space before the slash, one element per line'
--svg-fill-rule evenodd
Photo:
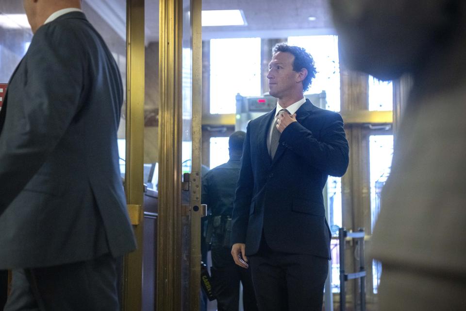
<path fill-rule="evenodd" d="M 205 232 L 212 250 L 212 279 L 218 311 L 238 311 L 239 282 L 243 284 L 244 311 L 257 304 L 249 269 L 237 266 L 231 255 L 232 211 L 246 133 L 234 132 L 228 141 L 230 160 L 210 170 L 202 179 L 202 204 L 210 212 Z"/>

